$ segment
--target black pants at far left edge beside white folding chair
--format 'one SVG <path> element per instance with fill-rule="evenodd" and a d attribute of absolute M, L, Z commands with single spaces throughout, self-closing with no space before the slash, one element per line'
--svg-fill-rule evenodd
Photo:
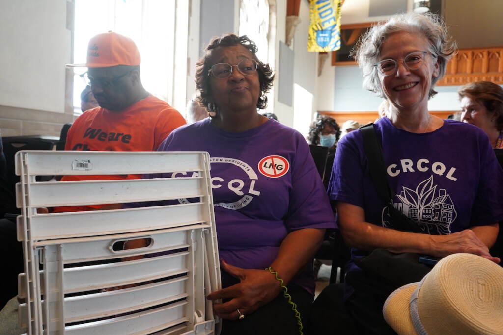
<path fill-rule="evenodd" d="M 0 290 L 0 309 L 7 301 L 18 294 L 18 274 L 23 272 L 23 247 L 18 242 L 15 220 L 0 219 L 0 254 L 3 259 L 2 289 Z"/>

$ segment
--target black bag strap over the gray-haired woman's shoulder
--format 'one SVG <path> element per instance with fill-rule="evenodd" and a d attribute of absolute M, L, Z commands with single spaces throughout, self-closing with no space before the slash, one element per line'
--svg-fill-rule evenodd
<path fill-rule="evenodd" d="M 385 203 L 390 203 L 395 197 L 395 193 L 389 188 L 388 174 L 382 155 L 381 145 L 377 140 L 374 124 L 360 127 L 360 133 L 363 137 L 363 148 L 369 162 L 370 176 L 377 188 L 377 193 Z"/>

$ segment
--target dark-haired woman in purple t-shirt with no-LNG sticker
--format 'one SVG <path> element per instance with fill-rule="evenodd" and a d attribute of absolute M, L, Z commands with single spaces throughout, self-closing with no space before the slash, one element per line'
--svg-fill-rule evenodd
<path fill-rule="evenodd" d="M 273 83 L 246 36 L 210 42 L 197 64 L 199 102 L 211 118 L 175 130 L 159 151 L 207 151 L 222 290 L 208 295 L 222 334 L 297 333 L 313 299 L 312 258 L 335 226 L 328 197 L 297 131 L 258 113 Z M 184 176 L 180 173 L 177 176 Z M 300 321 L 300 320 L 299 320 Z"/>

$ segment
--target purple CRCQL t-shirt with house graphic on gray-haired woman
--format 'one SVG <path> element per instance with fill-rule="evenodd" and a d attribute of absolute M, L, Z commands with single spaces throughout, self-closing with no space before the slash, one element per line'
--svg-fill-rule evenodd
<path fill-rule="evenodd" d="M 482 130 L 444 120 L 432 133 L 413 134 L 396 128 L 388 118 L 374 127 L 387 180 L 396 193 L 393 205 L 420 222 L 426 234 L 452 234 L 503 219 L 503 172 Z M 362 207 L 367 222 L 388 226 L 359 131 L 339 142 L 328 193 L 332 200 Z M 353 250 L 354 257 L 367 254 Z"/>

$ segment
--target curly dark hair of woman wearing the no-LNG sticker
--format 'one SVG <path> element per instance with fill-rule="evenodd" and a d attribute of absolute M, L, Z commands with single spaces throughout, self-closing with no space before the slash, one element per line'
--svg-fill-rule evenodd
<path fill-rule="evenodd" d="M 211 96 L 210 77 L 208 72 L 212 65 L 210 64 L 212 50 L 218 47 L 230 47 L 238 44 L 248 49 L 259 64 L 257 71 L 259 72 L 260 97 L 257 101 L 257 108 L 265 109 L 267 107 L 266 93 L 269 92 L 269 90 L 273 86 L 273 70 L 271 69 L 269 64 L 262 63 L 257 58 L 257 51 L 259 49 L 257 48 L 255 42 L 251 41 L 246 35 L 236 36 L 234 34 L 224 34 L 221 37 L 215 37 L 211 40 L 208 46 L 204 49 L 205 55 L 196 63 L 196 86 L 197 89 L 201 92 L 199 103 L 209 111 L 214 111 L 214 108 L 210 108 L 208 106 L 210 102 L 213 102 Z"/>

